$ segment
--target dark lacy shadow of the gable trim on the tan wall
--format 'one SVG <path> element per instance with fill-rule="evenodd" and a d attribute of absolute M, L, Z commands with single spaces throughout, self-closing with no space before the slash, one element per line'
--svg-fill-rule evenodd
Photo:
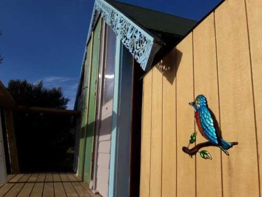
<path fill-rule="evenodd" d="M 173 85 L 175 80 L 182 55 L 183 53 L 180 50 L 174 48 L 163 58 L 163 60 L 160 60 L 159 63 L 156 64 L 156 68 L 163 73 L 163 76 L 171 85 Z"/>

